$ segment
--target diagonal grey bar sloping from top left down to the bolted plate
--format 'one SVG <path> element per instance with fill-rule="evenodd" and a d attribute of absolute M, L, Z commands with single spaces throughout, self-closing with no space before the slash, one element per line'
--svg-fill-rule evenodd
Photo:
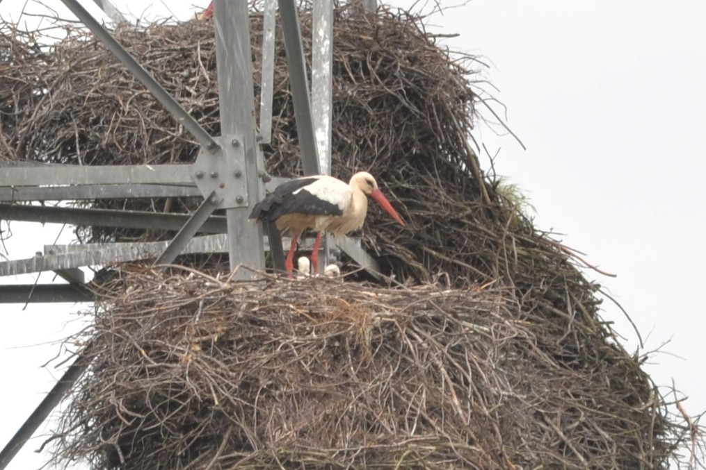
<path fill-rule="evenodd" d="M 95 20 L 95 18 L 93 18 L 85 8 L 83 8 L 83 6 L 81 6 L 81 4 L 78 3 L 77 0 L 61 1 L 63 1 L 64 5 L 66 5 L 68 9 L 71 10 L 73 14 L 76 15 L 76 17 L 103 42 L 103 44 L 105 44 L 105 46 L 113 53 L 114 56 L 116 56 L 116 58 L 118 58 L 119 61 L 124 63 L 128 70 L 130 70 L 131 73 L 133 73 L 133 75 L 135 75 L 135 77 L 140 80 L 140 82 L 142 82 L 148 90 L 150 90 L 157 101 L 160 101 L 162 106 L 164 106 L 164 109 L 169 111 L 169 113 L 174 116 L 177 123 L 184 125 L 184 128 L 191 132 L 191 135 L 196 138 L 198 143 L 209 150 L 215 150 L 218 148 L 218 144 L 215 140 L 213 140 L 208 132 L 206 132 L 194 118 L 189 116 L 189 113 L 181 107 L 177 100 L 174 99 L 172 95 L 169 94 L 167 90 L 165 90 L 164 87 L 162 87 L 162 85 L 160 85 L 160 83 L 157 82 L 157 80 L 155 80 L 155 78 L 152 77 L 147 70 L 145 70 L 145 68 L 143 68 L 143 66 L 140 66 L 140 63 L 138 63 L 138 61 L 136 61 L 135 58 L 131 56 L 131 54 L 126 51 L 124 47 L 122 47 L 120 43 L 117 42 L 114 37 L 112 37 L 110 33 L 107 32 L 105 28 L 102 27 L 102 25 L 98 23 L 97 20 Z"/>

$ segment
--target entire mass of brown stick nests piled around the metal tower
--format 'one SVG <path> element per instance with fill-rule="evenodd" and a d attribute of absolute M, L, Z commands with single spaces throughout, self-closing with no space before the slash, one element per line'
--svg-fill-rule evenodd
<path fill-rule="evenodd" d="M 311 37 L 309 7 L 301 23 Z M 83 165 L 193 161 L 196 142 L 150 94 L 85 30 L 64 27 L 68 37 L 51 47 L 39 33 L 0 27 L 10 64 L 0 66 L 0 154 Z M 259 70 L 259 13 L 251 28 Z M 213 25 L 114 35 L 219 134 Z M 694 428 L 668 419 L 640 359 L 616 345 L 579 259 L 481 174 L 467 143 L 480 102 L 472 60 L 452 58 L 417 16 L 338 8 L 333 174 L 373 171 L 409 226 L 371 209 L 364 245 L 385 271 L 421 285 L 124 271 L 100 292 L 87 350 L 95 361 L 73 391 L 59 458 L 97 469 L 666 466 Z M 281 39 L 273 109 L 268 171 L 299 175 Z M 149 211 L 196 204 L 95 202 Z"/>

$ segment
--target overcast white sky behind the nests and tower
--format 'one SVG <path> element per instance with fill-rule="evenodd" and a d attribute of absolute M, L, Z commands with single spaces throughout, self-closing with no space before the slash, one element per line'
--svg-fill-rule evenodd
<path fill-rule="evenodd" d="M 58 0 L 45 3 L 61 9 Z M 170 6 L 175 15 L 193 14 L 190 2 L 179 3 Z M 16 19 L 23 4 L 4 0 L 0 15 Z M 137 16 L 165 11 L 160 2 L 116 4 Z M 530 197 L 537 227 L 566 234 L 567 245 L 618 275 L 589 273 L 628 310 L 646 350 L 669 342 L 651 356 L 647 371 L 658 385 L 674 380 L 691 414 L 706 410 L 705 20 L 706 2 L 697 0 L 474 0 L 431 19 L 443 32 L 460 34 L 448 40 L 453 48 L 490 64 L 484 77 L 498 87 L 508 123 L 527 146 L 481 126 L 491 153 L 500 149 L 496 170 Z M 8 245 L 13 258 L 31 256 L 56 236 L 54 228 L 18 225 Z M 622 314 L 610 302 L 604 309 L 635 350 Z M 4 387 L 0 445 L 52 386 L 40 366 L 57 347 L 36 345 L 78 328 L 74 311 L 66 304 L 3 307 L 0 364 L 4 383 L 12 385 Z M 30 441 L 9 468 L 40 466 L 42 457 L 32 452 L 40 443 Z"/>

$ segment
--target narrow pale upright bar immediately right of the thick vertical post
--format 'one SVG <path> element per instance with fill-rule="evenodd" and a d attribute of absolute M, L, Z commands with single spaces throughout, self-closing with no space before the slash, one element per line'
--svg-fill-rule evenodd
<path fill-rule="evenodd" d="M 260 78 L 260 131 L 258 142 L 272 142 L 272 97 L 275 82 L 275 20 L 277 1 L 265 0 L 263 18 L 263 58 Z"/>

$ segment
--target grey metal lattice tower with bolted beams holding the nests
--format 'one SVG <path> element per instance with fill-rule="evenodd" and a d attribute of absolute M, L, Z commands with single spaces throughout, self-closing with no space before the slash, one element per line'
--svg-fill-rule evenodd
<path fill-rule="evenodd" d="M 178 230 L 169 242 L 112 243 L 78 246 L 47 245 L 43 256 L 0 262 L 0 276 L 54 271 L 68 281 L 64 285 L 3 285 L 0 303 L 90 302 L 83 266 L 101 266 L 138 258 L 156 257 L 156 264 L 169 264 L 180 253 L 228 252 L 232 270 L 239 265 L 264 269 L 265 249 L 271 249 L 275 267 L 284 256 L 280 233 L 249 223 L 248 216 L 266 188 L 282 183 L 265 173 L 260 143 L 270 142 L 275 45 L 275 14 L 280 10 L 287 50 L 297 132 L 305 175 L 330 174 L 331 166 L 331 74 L 333 63 L 333 0 L 315 0 L 313 20 L 313 64 L 311 97 L 306 78 L 304 50 L 295 0 L 265 0 L 263 74 L 260 131 L 253 116 L 253 73 L 250 54 L 249 11 L 245 1 L 216 0 L 214 11 L 217 79 L 220 96 L 220 136 L 211 136 L 179 103 L 93 18 L 78 0 L 62 0 L 201 144 L 193 164 L 133 166 L 64 166 L 42 163 L 0 163 L 0 214 L 8 221 L 103 225 L 152 230 Z M 120 13 L 107 0 L 94 0 L 111 18 Z M 371 11 L 375 0 L 352 0 L 357 8 Z M 318 140 L 316 136 L 318 135 Z M 13 204 L 98 198 L 144 198 L 202 196 L 203 202 L 190 215 L 154 214 L 138 211 L 75 209 Z M 225 209 L 226 216 L 213 216 Z M 197 236 L 201 234 L 200 236 Z M 208 234 L 208 235 L 203 235 Z M 329 243 L 326 244 L 327 247 Z M 358 264 L 378 271 L 374 259 L 356 240 L 337 242 Z M 250 276 L 239 270 L 235 276 Z M 4 469 L 38 426 L 56 407 L 90 364 L 78 354 L 64 376 L 47 394 L 0 452 Z"/>

